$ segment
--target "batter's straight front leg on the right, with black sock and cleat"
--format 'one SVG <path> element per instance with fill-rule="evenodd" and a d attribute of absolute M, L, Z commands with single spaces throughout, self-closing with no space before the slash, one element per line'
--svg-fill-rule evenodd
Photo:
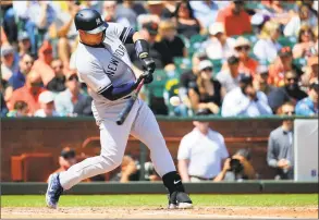
<path fill-rule="evenodd" d="M 138 105 L 131 134 L 149 148 L 155 169 L 170 193 L 170 208 L 191 208 L 192 200 L 185 193 L 154 113 L 144 101 L 138 100 Z"/>

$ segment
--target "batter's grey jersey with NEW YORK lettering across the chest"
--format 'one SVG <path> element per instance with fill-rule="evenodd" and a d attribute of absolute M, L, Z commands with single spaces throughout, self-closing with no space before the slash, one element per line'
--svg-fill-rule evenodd
<path fill-rule="evenodd" d="M 96 106 L 111 102 L 100 95 L 111 85 L 119 86 L 135 81 L 132 62 L 124 46 L 133 33 L 131 27 L 109 23 L 101 45 L 91 47 L 78 44 L 76 70 L 79 78 L 91 88 L 90 95 Z"/>

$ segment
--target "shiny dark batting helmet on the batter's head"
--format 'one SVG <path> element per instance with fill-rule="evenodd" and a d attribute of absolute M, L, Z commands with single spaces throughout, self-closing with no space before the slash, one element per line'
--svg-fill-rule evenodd
<path fill-rule="evenodd" d="M 98 34 L 108 27 L 99 12 L 93 9 L 78 11 L 74 19 L 76 29 L 85 30 L 88 34 Z"/>

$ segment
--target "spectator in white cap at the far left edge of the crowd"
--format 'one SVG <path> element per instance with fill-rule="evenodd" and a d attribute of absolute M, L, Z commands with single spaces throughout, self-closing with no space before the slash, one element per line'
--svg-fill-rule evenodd
<path fill-rule="evenodd" d="M 9 81 L 12 74 L 17 71 L 17 65 L 14 62 L 14 48 L 11 45 L 1 47 L 1 80 Z"/>

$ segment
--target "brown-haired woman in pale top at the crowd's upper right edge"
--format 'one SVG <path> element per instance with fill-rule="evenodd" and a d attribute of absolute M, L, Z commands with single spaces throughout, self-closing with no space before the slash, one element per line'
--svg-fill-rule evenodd
<path fill-rule="evenodd" d="M 308 58 L 317 53 L 318 45 L 316 46 L 315 34 L 309 26 L 300 27 L 298 34 L 298 42 L 293 48 L 293 57 Z"/>

